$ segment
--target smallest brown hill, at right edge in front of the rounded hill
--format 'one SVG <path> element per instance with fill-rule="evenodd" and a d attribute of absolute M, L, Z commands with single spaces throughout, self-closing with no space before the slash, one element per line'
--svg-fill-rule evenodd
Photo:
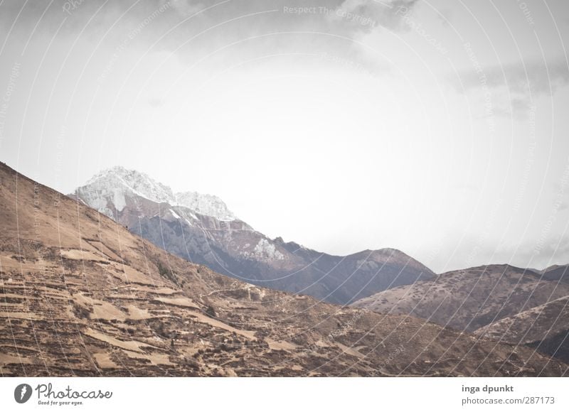
<path fill-rule="evenodd" d="M 535 347 L 569 362 L 569 296 L 523 310 L 474 331 L 514 345 Z"/>

